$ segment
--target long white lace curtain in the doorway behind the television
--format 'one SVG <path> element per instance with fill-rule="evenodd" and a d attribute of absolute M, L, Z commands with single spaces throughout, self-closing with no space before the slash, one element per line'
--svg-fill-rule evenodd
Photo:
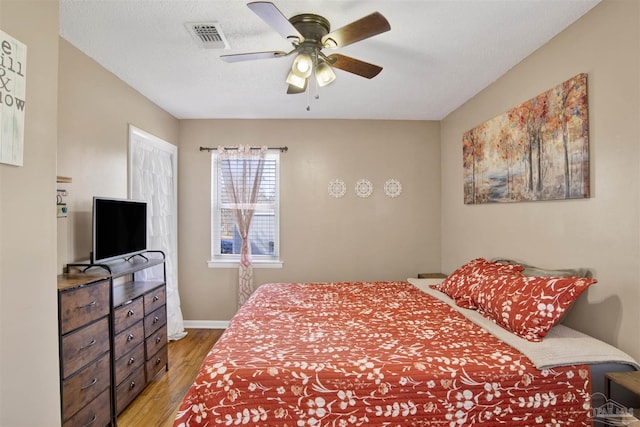
<path fill-rule="evenodd" d="M 129 197 L 147 202 L 148 248 L 165 253 L 167 273 L 167 335 L 178 340 L 187 333 L 178 293 L 177 148 L 139 129 L 129 134 Z M 162 270 L 149 272 L 162 277 Z M 151 277 L 148 277 L 150 279 Z"/>

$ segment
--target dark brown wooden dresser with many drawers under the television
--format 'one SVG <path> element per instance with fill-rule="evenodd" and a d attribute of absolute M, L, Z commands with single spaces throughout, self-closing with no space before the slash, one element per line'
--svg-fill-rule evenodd
<path fill-rule="evenodd" d="M 58 277 L 63 427 L 116 425 L 168 369 L 164 254 L 143 255 Z"/>

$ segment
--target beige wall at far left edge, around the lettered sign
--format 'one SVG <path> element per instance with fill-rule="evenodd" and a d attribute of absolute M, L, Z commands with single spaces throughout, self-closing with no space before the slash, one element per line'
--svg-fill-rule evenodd
<path fill-rule="evenodd" d="M 58 2 L 0 0 L 27 45 L 24 166 L 0 164 L 0 425 L 60 424 L 56 305 Z"/>

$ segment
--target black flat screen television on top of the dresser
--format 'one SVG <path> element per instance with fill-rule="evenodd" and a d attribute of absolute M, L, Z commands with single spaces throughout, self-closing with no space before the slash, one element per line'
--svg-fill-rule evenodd
<path fill-rule="evenodd" d="M 91 262 L 128 259 L 147 250 L 147 203 L 93 198 Z"/>

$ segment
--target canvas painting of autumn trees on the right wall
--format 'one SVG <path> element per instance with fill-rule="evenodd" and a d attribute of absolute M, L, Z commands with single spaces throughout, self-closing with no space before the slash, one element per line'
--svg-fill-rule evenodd
<path fill-rule="evenodd" d="M 587 75 L 462 136 L 466 204 L 589 197 Z"/>

